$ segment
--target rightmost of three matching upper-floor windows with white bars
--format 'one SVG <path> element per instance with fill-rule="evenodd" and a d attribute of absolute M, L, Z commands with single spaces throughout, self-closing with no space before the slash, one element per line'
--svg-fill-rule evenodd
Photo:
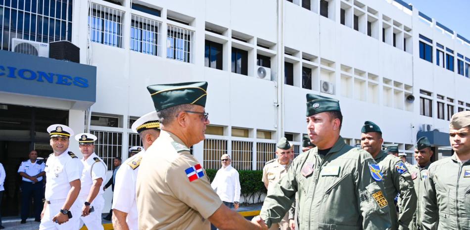
<path fill-rule="evenodd" d="M 168 25 L 167 58 L 192 63 L 194 31 Z"/>

